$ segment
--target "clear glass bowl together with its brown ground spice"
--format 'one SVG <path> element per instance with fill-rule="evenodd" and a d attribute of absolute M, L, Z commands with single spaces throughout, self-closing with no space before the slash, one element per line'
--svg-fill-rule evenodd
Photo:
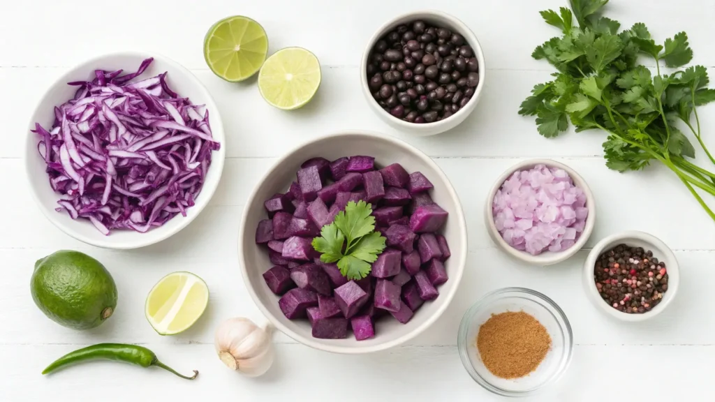
<path fill-rule="evenodd" d="M 563 310 L 525 288 L 503 288 L 467 310 L 458 334 L 470 376 L 502 396 L 528 396 L 554 383 L 568 368 L 573 333 Z"/>

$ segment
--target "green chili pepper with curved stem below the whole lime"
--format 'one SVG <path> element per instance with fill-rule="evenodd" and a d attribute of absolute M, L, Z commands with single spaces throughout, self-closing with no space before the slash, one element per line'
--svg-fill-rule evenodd
<path fill-rule="evenodd" d="M 124 343 L 99 343 L 97 345 L 87 346 L 87 348 L 74 350 L 74 352 L 67 353 L 51 363 L 42 371 L 42 374 L 49 374 L 59 368 L 71 366 L 76 363 L 95 360 L 123 361 L 142 367 L 157 366 L 187 380 L 193 380 L 199 375 L 199 372 L 194 370 L 193 376 L 182 376 L 174 371 L 173 368 L 164 366 L 164 363 L 157 359 L 157 355 L 155 355 L 152 350 L 144 348 L 143 346 L 127 345 Z"/>

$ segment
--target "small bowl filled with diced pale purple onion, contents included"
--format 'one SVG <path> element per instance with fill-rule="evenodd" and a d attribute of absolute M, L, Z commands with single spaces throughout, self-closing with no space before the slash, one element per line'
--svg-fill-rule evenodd
<path fill-rule="evenodd" d="M 524 160 L 494 182 L 484 208 L 492 240 L 531 265 L 553 265 L 586 244 L 596 222 L 591 189 L 555 160 Z"/>

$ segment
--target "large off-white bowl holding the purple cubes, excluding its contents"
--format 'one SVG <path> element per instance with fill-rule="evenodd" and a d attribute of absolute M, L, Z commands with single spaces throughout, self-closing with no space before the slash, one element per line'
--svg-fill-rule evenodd
<path fill-rule="evenodd" d="M 408 172 L 423 172 L 435 188 L 430 195 L 449 217 L 443 234 L 450 245 L 452 256 L 445 262 L 449 280 L 439 288 L 440 295 L 415 312 L 410 322 L 403 325 L 397 320 L 383 318 L 375 328 L 375 338 L 358 342 L 352 335 L 345 339 L 317 339 L 311 335 L 307 320 L 288 320 L 278 307 L 278 297 L 267 287 L 262 273 L 271 268 L 265 247 L 255 243 L 258 222 L 267 215 L 263 202 L 277 192 L 286 192 L 295 180 L 300 164 L 312 157 L 335 160 L 351 155 L 370 155 L 375 162 L 385 166 L 400 163 Z M 261 178 L 246 202 L 239 237 L 238 255 L 243 280 L 258 308 L 278 330 L 312 348 L 335 353 L 370 353 L 404 343 L 422 333 L 446 310 L 462 279 L 467 258 L 467 228 L 457 193 L 435 162 L 405 142 L 381 134 L 346 131 L 332 134 L 300 145 Z"/>

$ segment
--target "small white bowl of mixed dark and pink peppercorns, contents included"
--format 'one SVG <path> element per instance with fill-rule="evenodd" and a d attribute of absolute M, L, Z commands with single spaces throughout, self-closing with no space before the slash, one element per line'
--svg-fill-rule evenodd
<path fill-rule="evenodd" d="M 655 317 L 673 301 L 679 284 L 678 260 L 671 249 L 644 232 L 604 238 L 583 265 L 583 285 L 593 304 L 623 321 Z"/>

